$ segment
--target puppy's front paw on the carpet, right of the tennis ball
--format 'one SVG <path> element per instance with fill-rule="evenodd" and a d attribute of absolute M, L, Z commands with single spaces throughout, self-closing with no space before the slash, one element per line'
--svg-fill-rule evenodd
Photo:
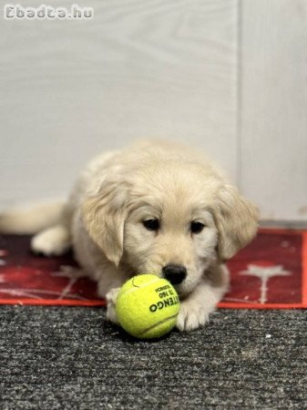
<path fill-rule="evenodd" d="M 179 331 L 198 329 L 209 322 L 209 311 L 206 306 L 197 302 L 181 302 L 176 326 Z"/>

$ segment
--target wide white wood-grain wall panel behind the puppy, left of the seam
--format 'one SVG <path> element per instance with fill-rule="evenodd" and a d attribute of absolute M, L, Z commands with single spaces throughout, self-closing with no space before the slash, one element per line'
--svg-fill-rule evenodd
<path fill-rule="evenodd" d="M 80 3 L 92 20 L 1 21 L 0 205 L 66 194 L 132 138 L 189 140 L 235 177 L 237 1 Z"/>

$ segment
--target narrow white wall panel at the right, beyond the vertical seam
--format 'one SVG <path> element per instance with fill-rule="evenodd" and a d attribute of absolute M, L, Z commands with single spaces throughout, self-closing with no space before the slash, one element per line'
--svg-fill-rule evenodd
<path fill-rule="evenodd" d="M 307 2 L 241 6 L 240 185 L 262 218 L 307 220 Z"/>

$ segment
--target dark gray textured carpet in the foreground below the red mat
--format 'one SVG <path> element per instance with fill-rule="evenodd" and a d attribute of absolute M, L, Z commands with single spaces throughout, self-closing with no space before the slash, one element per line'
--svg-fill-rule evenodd
<path fill-rule="evenodd" d="M 306 409 L 307 311 L 136 342 L 102 308 L 0 306 L 0 408 Z"/>

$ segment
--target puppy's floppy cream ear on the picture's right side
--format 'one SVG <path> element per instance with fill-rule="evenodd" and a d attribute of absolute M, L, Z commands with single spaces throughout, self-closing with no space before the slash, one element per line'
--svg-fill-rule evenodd
<path fill-rule="evenodd" d="M 219 256 L 227 261 L 256 235 L 259 211 L 235 187 L 225 185 L 217 195 L 212 213 L 219 231 Z"/>

